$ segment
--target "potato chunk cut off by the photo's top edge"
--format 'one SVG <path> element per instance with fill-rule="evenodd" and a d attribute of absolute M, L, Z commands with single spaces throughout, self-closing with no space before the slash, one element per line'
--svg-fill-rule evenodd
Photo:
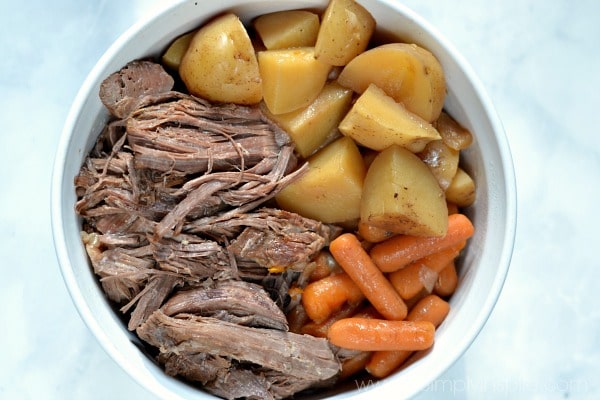
<path fill-rule="evenodd" d="M 375 31 L 375 19 L 354 0 L 330 0 L 315 45 L 316 57 L 330 65 L 346 65 L 362 53 Z"/>

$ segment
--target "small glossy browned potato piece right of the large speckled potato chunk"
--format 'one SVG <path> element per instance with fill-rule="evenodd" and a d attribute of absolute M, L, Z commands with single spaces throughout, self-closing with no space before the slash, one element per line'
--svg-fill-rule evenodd
<path fill-rule="evenodd" d="M 437 179 L 442 190 L 446 190 L 456 175 L 460 153 L 446 145 L 443 140 L 429 142 L 418 154 Z"/>

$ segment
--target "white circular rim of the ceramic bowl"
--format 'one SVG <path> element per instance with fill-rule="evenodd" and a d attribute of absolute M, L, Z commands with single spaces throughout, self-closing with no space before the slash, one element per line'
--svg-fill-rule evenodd
<path fill-rule="evenodd" d="M 243 1 L 243 3 L 251 3 L 252 0 Z M 321 0 L 306 0 L 304 3 L 315 3 L 323 4 L 326 1 Z M 360 2 L 360 0 L 359 0 Z M 440 375 L 442 375 L 448 368 L 450 368 L 460 357 L 468 350 L 470 345 L 475 341 L 478 334 L 481 332 L 483 327 L 485 326 L 487 320 L 489 319 L 495 304 L 497 303 L 504 282 L 506 280 L 510 261 L 512 258 L 512 253 L 514 250 L 515 236 L 516 236 L 516 224 L 517 224 L 517 192 L 516 192 L 516 178 L 514 172 L 514 165 L 511 156 L 511 150 L 508 143 L 508 139 L 506 137 L 504 128 L 500 121 L 500 118 L 496 112 L 494 105 L 492 104 L 491 99 L 489 98 L 486 90 L 483 87 L 483 84 L 479 80 L 478 76 L 475 74 L 474 70 L 467 62 L 467 60 L 457 51 L 457 49 L 453 46 L 452 43 L 446 37 L 437 31 L 427 20 L 422 18 L 416 12 L 405 6 L 403 3 L 395 0 L 379 0 L 384 6 L 389 7 L 398 11 L 399 13 L 404 14 L 407 18 L 410 18 L 415 22 L 416 25 L 419 26 L 420 29 L 424 30 L 428 35 L 437 41 L 440 46 L 446 49 L 446 51 L 452 56 L 453 60 L 456 62 L 458 67 L 464 72 L 468 81 L 473 85 L 474 90 L 479 96 L 479 100 L 482 103 L 482 106 L 485 108 L 488 114 L 489 121 L 491 123 L 492 130 L 494 131 L 494 139 L 495 143 L 498 146 L 498 152 L 500 154 L 500 158 L 502 161 L 502 176 L 503 176 L 503 189 L 506 194 L 504 208 L 505 212 L 505 220 L 502 221 L 505 230 L 502 248 L 500 250 L 500 258 L 497 263 L 497 270 L 495 273 L 495 278 L 490 287 L 490 290 L 485 297 L 485 302 L 481 304 L 480 310 L 477 314 L 477 319 L 473 321 L 473 324 L 469 327 L 467 331 L 465 331 L 464 336 L 462 337 L 462 341 L 457 343 L 452 349 L 448 349 L 442 355 L 442 362 L 438 364 L 430 364 L 428 367 L 432 368 L 434 372 L 432 372 L 432 376 L 434 379 L 437 379 Z M 67 290 L 76 306 L 76 309 L 86 324 L 86 326 L 90 329 L 93 336 L 98 340 L 101 347 L 104 349 L 107 354 L 116 361 L 116 363 L 128 374 L 130 375 L 136 383 L 140 386 L 144 387 L 146 390 L 150 390 L 154 394 L 162 397 L 173 396 L 173 393 L 166 388 L 165 382 L 148 382 L 147 377 L 138 373 L 137 371 L 129 368 L 129 360 L 125 357 L 123 353 L 119 351 L 118 348 L 114 346 L 114 343 L 111 342 L 110 338 L 104 332 L 102 326 L 100 326 L 96 317 L 92 314 L 92 310 L 90 305 L 85 300 L 84 294 L 77 282 L 77 276 L 72 266 L 70 265 L 70 256 L 69 250 L 66 246 L 67 235 L 62 224 L 64 214 L 62 205 L 62 185 L 64 181 L 64 173 L 65 173 L 65 160 L 67 160 L 67 153 L 69 149 L 69 144 L 72 141 L 72 137 L 74 135 L 74 128 L 77 124 L 77 120 L 79 118 L 79 114 L 82 111 L 84 104 L 86 103 L 86 99 L 90 93 L 93 92 L 96 81 L 100 72 L 104 69 L 104 67 L 110 62 L 110 60 L 115 57 L 116 54 L 128 43 L 133 37 L 135 37 L 139 32 L 148 24 L 151 24 L 153 21 L 161 18 L 163 13 L 171 12 L 178 7 L 181 7 L 182 4 L 186 3 L 186 0 L 177 0 L 170 3 L 168 6 L 161 6 L 154 10 L 152 13 L 140 18 L 137 22 L 131 25 L 124 33 L 122 33 L 104 52 L 104 54 L 98 59 L 95 66 L 87 75 L 84 80 L 82 86 L 80 87 L 77 95 L 75 96 L 72 106 L 69 110 L 67 118 L 64 123 L 63 130 L 60 135 L 60 140 L 58 144 L 58 148 L 56 151 L 54 166 L 53 166 L 53 174 L 52 174 L 52 182 L 51 182 L 51 224 L 52 224 L 52 233 L 54 240 L 54 248 L 56 257 L 59 262 L 61 274 L 67 286 Z M 231 2 L 232 4 L 235 2 Z M 282 2 L 282 4 L 285 2 Z M 223 2 L 222 8 L 226 8 L 229 2 Z M 421 362 L 425 361 L 427 358 L 423 358 Z M 413 365 L 408 366 L 408 368 L 414 367 Z M 161 370 L 162 371 L 162 370 Z M 386 378 L 386 380 L 393 381 L 394 376 Z M 384 392 L 389 391 L 392 394 L 394 385 L 373 385 L 369 387 L 368 390 L 357 390 L 353 393 L 345 393 L 343 395 L 338 395 L 343 398 L 360 396 L 361 394 L 372 395 L 372 394 L 383 394 Z M 416 395 L 419 391 L 425 389 L 425 385 L 421 385 L 422 387 L 414 388 L 411 393 L 408 393 L 410 396 Z M 181 390 L 181 389 L 179 389 Z M 185 391 L 185 389 L 184 389 Z M 193 394 L 198 392 L 197 389 L 190 389 L 189 394 Z M 207 396 L 210 396 L 206 394 Z M 341 398 L 337 397 L 336 398 Z M 207 397 L 210 398 L 210 397 Z"/>

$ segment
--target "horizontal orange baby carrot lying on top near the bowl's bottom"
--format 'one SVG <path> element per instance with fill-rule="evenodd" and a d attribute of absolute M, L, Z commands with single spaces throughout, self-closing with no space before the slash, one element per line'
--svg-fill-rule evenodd
<path fill-rule="evenodd" d="M 327 332 L 339 347 L 362 351 L 425 350 L 433 345 L 435 326 L 429 321 L 388 321 L 371 318 L 344 318 Z"/>

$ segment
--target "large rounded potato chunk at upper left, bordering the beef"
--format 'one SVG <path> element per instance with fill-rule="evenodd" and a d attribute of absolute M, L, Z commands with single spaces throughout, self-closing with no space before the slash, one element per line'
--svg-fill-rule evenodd
<path fill-rule="evenodd" d="M 196 32 L 179 75 L 191 94 L 211 101 L 256 104 L 262 99 L 254 48 L 234 14 L 218 17 Z"/>

